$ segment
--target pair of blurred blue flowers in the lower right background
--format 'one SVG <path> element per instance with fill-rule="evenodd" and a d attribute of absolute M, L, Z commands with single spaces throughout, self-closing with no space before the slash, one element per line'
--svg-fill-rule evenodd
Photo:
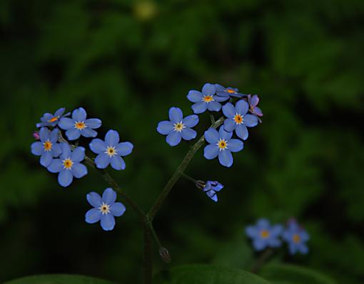
<path fill-rule="evenodd" d="M 295 219 L 290 219 L 285 228 L 281 224 L 271 225 L 267 219 L 259 219 L 256 225 L 246 227 L 246 235 L 252 239 L 256 251 L 278 248 L 282 246 L 282 241 L 285 241 L 290 254 L 308 253 L 306 243 L 310 235 Z"/>

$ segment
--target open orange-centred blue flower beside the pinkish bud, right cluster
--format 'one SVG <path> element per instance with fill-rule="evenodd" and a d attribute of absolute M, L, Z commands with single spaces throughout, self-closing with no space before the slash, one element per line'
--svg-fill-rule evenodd
<path fill-rule="evenodd" d="M 248 112 L 248 102 L 245 100 L 239 100 L 234 105 L 231 102 L 226 103 L 223 106 L 223 114 L 228 117 L 224 120 L 224 129 L 228 132 L 233 132 L 235 130 L 236 135 L 242 140 L 248 138 L 248 127 L 254 127 L 258 125 L 258 118 L 255 115 L 249 115 Z"/>

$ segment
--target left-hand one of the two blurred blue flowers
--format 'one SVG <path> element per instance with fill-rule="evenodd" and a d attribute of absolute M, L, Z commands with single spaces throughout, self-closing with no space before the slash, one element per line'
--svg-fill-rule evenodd
<path fill-rule="evenodd" d="M 253 248 L 256 251 L 263 251 L 265 248 L 278 248 L 282 244 L 279 239 L 282 232 L 282 225 L 271 226 L 267 219 L 259 219 L 256 225 L 246 227 L 246 235 L 252 239 Z"/>

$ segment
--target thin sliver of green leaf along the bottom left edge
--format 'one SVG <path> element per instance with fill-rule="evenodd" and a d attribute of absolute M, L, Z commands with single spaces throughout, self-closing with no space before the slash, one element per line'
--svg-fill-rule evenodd
<path fill-rule="evenodd" d="M 112 282 L 91 278 L 81 275 L 35 275 L 16 280 L 11 280 L 4 284 L 113 284 Z"/>

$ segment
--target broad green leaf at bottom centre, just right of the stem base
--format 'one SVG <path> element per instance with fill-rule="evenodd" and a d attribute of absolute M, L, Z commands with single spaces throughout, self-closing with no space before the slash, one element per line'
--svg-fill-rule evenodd
<path fill-rule="evenodd" d="M 182 265 L 172 268 L 156 280 L 158 284 L 268 284 L 244 270 L 218 265 Z"/>

